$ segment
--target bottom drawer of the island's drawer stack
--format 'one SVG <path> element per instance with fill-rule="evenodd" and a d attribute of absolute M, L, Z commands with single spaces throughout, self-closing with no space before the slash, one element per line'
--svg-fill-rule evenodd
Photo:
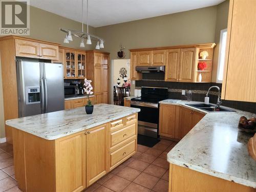
<path fill-rule="evenodd" d="M 111 166 L 120 162 L 125 157 L 129 156 L 131 153 L 135 152 L 136 140 L 127 143 L 123 147 L 119 148 L 119 150 L 110 154 Z"/>

